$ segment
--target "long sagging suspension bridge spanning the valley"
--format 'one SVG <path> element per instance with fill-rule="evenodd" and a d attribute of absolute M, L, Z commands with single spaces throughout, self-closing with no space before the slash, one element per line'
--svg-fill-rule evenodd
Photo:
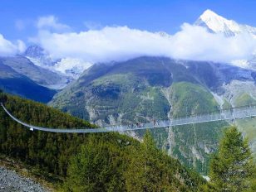
<path fill-rule="evenodd" d="M 161 127 L 173 127 L 180 125 L 196 124 L 201 122 L 218 122 L 225 120 L 234 120 L 239 118 L 254 118 L 256 117 L 256 106 L 246 106 L 242 108 L 229 108 L 225 110 L 220 110 L 217 113 L 207 113 L 196 115 L 192 117 L 185 118 L 172 118 L 163 121 L 153 121 L 145 123 L 136 123 L 135 125 L 116 125 L 116 126 L 106 126 L 99 128 L 54 128 L 54 127 L 37 127 L 34 125 L 27 124 L 21 120 L 15 118 L 12 113 L 10 113 L 7 108 L 1 103 L 4 111 L 10 116 L 14 121 L 22 124 L 23 126 L 29 128 L 31 131 L 38 130 L 43 132 L 63 132 L 63 133 L 90 133 L 90 132 L 126 132 L 141 129 L 153 129 Z"/>

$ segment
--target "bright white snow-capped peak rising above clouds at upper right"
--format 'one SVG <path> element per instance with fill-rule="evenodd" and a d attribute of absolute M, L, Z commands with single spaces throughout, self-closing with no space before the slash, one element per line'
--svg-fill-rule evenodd
<path fill-rule="evenodd" d="M 233 20 L 228 20 L 217 13 L 207 9 L 198 18 L 194 25 L 204 26 L 214 33 L 223 33 L 225 36 L 235 36 L 245 32 L 256 36 L 256 28 L 253 26 L 241 25 Z"/>

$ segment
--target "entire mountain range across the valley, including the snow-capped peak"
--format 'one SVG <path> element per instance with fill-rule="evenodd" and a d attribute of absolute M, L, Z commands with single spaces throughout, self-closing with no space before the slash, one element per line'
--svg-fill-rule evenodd
<path fill-rule="evenodd" d="M 227 20 L 210 10 L 194 25 L 223 34 L 225 38 L 242 33 L 256 36 L 255 27 Z M 158 34 L 169 36 L 165 32 Z M 52 59 L 46 50 L 34 45 L 22 55 L 1 57 L 0 67 L 1 89 L 49 102 L 55 108 L 101 126 L 178 118 L 256 104 L 254 53 L 250 60 L 234 60 L 230 64 L 140 56 L 92 65 L 73 58 Z M 46 94 L 42 96 L 44 99 L 33 98 L 38 95 L 37 89 L 38 93 Z M 255 122 L 255 119 L 236 122 L 249 137 L 254 153 Z M 216 151 L 223 127 L 229 123 L 208 122 L 152 132 L 157 145 L 170 156 L 207 174 L 209 156 Z M 127 134 L 140 140 L 144 132 Z"/>

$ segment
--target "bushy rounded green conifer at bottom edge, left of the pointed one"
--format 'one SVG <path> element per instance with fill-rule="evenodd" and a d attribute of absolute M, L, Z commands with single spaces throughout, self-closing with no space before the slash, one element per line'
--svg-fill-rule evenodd
<path fill-rule="evenodd" d="M 122 178 L 116 166 L 121 166 L 121 151 L 110 142 L 90 136 L 81 151 L 68 166 L 66 191 L 123 191 Z"/>

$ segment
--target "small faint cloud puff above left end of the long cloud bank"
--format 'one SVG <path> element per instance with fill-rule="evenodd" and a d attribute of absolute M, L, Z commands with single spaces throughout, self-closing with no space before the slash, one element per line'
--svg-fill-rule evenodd
<path fill-rule="evenodd" d="M 58 22 L 55 16 L 39 17 L 37 20 L 38 29 L 47 29 L 52 31 L 69 31 L 70 26 Z"/>

